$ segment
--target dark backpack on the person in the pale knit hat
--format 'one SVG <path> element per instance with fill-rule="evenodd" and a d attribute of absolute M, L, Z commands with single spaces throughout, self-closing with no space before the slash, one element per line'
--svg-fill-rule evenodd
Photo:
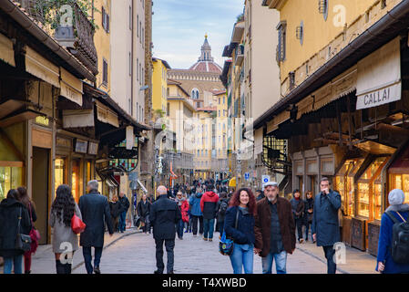
<path fill-rule="evenodd" d="M 397 264 L 409 264 L 409 223 L 404 220 L 399 212 L 396 212 L 403 222 L 400 222 L 394 214 L 386 212 L 394 221 L 392 233 L 392 258 Z"/>

